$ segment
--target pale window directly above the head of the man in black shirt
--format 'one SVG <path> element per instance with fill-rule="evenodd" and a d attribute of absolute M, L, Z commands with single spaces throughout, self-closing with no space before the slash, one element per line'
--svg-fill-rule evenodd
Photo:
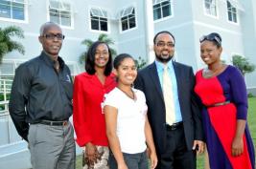
<path fill-rule="evenodd" d="M 67 1 L 50 0 L 49 4 L 50 21 L 65 27 L 72 27 L 72 8 Z"/>

